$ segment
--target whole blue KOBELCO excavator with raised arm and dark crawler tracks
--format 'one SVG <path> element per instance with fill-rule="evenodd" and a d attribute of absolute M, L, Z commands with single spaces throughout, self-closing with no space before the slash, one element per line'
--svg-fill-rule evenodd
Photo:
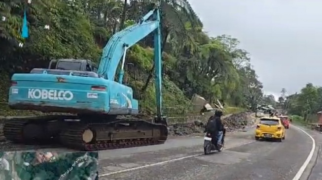
<path fill-rule="evenodd" d="M 133 89 L 122 82 L 126 51 L 150 33 L 154 35 L 157 116 L 146 120 L 139 116 Z M 99 67 L 90 60 L 58 59 L 51 60 L 48 69 L 14 74 L 11 109 L 59 115 L 7 120 L 4 136 L 22 144 L 57 140 L 64 147 L 85 151 L 163 144 L 168 128 L 162 116 L 161 67 L 160 11 L 154 6 L 137 24 L 109 39 Z"/>

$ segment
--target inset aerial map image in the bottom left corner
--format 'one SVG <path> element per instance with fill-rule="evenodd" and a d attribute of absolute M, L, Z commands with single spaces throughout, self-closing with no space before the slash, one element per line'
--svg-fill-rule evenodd
<path fill-rule="evenodd" d="M 98 152 L 0 152 L 0 180 L 98 180 Z"/>

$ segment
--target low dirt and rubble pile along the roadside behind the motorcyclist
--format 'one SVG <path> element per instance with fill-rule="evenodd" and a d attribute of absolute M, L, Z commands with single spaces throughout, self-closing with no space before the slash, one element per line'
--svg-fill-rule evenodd
<path fill-rule="evenodd" d="M 256 119 L 252 113 L 238 113 L 223 118 L 227 132 L 243 130 L 255 124 Z M 176 123 L 168 126 L 169 135 L 184 136 L 193 133 L 203 133 L 206 120 L 195 120 L 194 122 Z"/>

